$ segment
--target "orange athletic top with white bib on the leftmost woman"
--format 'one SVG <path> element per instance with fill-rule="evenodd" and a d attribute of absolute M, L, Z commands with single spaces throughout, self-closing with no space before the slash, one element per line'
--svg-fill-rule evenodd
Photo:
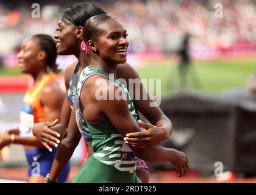
<path fill-rule="evenodd" d="M 19 129 L 21 136 L 33 136 L 32 127 L 34 123 L 46 121 L 44 117 L 43 105 L 39 99 L 39 93 L 44 84 L 49 82 L 49 80 L 54 79 L 54 77 L 54 74 L 48 74 L 44 76 L 43 80 L 41 80 L 34 91 L 30 90 L 31 86 L 27 90 L 23 99 L 23 105 L 20 113 Z"/>

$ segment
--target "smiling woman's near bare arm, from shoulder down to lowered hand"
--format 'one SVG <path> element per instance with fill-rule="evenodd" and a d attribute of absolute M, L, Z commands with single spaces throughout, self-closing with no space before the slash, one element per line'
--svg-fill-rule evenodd
<path fill-rule="evenodd" d="M 98 79 L 105 79 L 106 86 L 96 86 L 95 83 Z M 126 137 L 127 133 L 140 132 L 140 127 L 129 112 L 126 95 L 122 94 L 121 99 L 116 99 L 114 96 L 114 100 L 98 99 L 95 94 L 99 88 L 102 90 L 102 94 L 107 94 L 107 97 L 113 97 L 110 96 L 110 93 L 116 94 L 116 91 L 121 91 L 118 85 L 109 82 L 103 76 L 89 77 L 80 94 L 82 105 L 85 105 L 84 118 L 90 122 L 102 122 L 108 118 L 123 137 Z M 138 158 L 146 161 L 171 161 L 174 168 L 179 171 L 179 176 L 183 176 L 187 172 L 188 159 L 183 152 L 161 146 L 151 146 L 145 149 L 131 147 L 131 149 Z"/>

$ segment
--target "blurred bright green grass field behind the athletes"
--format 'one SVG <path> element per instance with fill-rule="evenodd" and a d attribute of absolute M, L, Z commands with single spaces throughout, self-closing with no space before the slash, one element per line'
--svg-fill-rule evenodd
<path fill-rule="evenodd" d="M 146 66 L 137 68 L 137 71 L 141 78 L 161 79 L 162 98 L 180 90 L 178 67 L 172 60 L 148 62 Z M 254 72 L 256 72 L 256 59 L 193 62 L 193 69 L 188 73 L 188 88 L 205 93 L 221 93 L 232 88 L 243 87 L 249 74 Z M 8 75 L 21 75 L 21 73 L 19 69 L 0 69 L 0 76 Z M 195 75 L 200 83 L 198 88 L 193 82 Z"/>

